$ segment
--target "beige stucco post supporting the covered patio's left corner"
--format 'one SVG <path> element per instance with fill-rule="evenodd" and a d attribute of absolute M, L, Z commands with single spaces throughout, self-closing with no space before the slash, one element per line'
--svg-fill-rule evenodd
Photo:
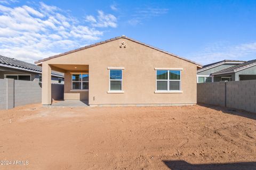
<path fill-rule="evenodd" d="M 52 104 L 51 90 L 51 74 L 52 68 L 47 63 L 42 63 L 42 104 Z"/>

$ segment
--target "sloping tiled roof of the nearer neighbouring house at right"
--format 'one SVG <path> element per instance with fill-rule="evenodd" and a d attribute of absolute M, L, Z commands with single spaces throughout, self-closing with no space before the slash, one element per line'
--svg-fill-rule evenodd
<path fill-rule="evenodd" d="M 246 68 L 249 68 L 252 66 L 256 66 L 256 60 L 250 60 L 250 61 L 244 62 L 242 64 L 238 64 L 236 66 L 232 66 L 229 68 L 222 69 L 220 71 L 216 71 L 212 75 L 225 74 L 225 73 L 229 73 L 229 72 L 237 72 L 239 70 L 243 70 L 243 69 L 246 69 Z"/>

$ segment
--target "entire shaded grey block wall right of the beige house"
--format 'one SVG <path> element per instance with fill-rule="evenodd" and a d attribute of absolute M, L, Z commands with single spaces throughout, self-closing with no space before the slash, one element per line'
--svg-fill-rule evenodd
<path fill-rule="evenodd" d="M 256 112 L 256 80 L 198 83 L 197 102 Z"/>

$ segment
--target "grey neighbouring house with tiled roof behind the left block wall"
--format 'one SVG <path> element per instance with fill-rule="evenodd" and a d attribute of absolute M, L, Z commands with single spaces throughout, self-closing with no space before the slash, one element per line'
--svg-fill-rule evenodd
<path fill-rule="evenodd" d="M 42 67 L 0 55 L 0 78 L 42 82 Z M 51 72 L 52 83 L 64 83 L 64 74 Z"/>

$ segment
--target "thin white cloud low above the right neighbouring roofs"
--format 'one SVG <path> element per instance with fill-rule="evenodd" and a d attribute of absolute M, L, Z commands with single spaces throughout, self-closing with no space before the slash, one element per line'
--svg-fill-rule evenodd
<path fill-rule="evenodd" d="M 256 59 L 256 42 L 230 45 L 218 42 L 205 46 L 203 50 L 187 56 L 191 60 L 202 64 L 209 64 L 221 60 L 250 60 Z"/>

